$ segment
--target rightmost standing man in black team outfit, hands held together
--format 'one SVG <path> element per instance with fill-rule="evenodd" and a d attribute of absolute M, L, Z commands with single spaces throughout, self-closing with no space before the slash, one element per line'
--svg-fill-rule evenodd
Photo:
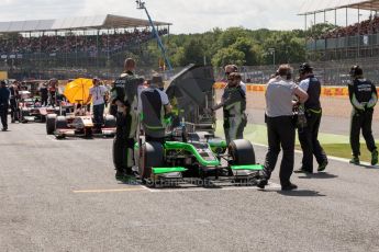
<path fill-rule="evenodd" d="M 366 146 L 371 152 L 371 165 L 378 163 L 378 149 L 372 136 L 372 114 L 378 102 L 378 93 L 375 84 L 364 78 L 364 70 L 359 66 L 350 69 L 352 83 L 348 84 L 348 95 L 353 105 L 350 122 L 350 146 L 353 158 L 350 163 L 359 164 L 360 129 L 366 140 Z"/>

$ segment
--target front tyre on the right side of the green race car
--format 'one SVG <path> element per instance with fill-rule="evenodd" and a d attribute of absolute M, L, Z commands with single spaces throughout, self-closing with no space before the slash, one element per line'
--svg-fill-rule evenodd
<path fill-rule="evenodd" d="M 252 142 L 245 139 L 233 140 L 228 153 L 234 165 L 255 164 L 255 152 Z"/>

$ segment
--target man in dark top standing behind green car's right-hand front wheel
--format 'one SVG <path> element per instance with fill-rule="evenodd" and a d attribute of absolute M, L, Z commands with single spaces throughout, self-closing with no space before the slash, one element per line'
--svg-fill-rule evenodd
<path fill-rule="evenodd" d="M 245 114 L 246 92 L 239 84 L 241 79 L 238 72 L 231 72 L 227 75 L 227 85 L 224 89 L 221 103 L 211 108 L 215 111 L 223 107 L 224 133 L 227 145 L 235 139 L 244 138 L 244 128 L 247 124 Z"/>

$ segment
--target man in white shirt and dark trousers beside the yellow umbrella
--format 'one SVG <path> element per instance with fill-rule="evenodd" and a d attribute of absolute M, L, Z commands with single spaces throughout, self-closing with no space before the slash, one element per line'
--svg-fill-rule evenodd
<path fill-rule="evenodd" d="M 93 87 L 89 89 L 89 96 L 86 101 L 88 104 L 92 100 L 93 105 L 93 126 L 98 133 L 101 131 L 101 126 L 104 123 L 103 114 L 104 114 L 104 95 L 107 94 L 108 90 L 105 87 L 100 85 L 100 80 L 98 78 L 92 79 Z"/>

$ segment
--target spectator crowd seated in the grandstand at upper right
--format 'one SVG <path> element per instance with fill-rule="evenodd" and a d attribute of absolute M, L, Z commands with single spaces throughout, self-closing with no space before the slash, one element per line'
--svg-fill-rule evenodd
<path fill-rule="evenodd" d="M 355 23 L 346 27 L 337 27 L 332 32 L 323 34 L 320 38 L 335 38 L 356 35 L 375 34 L 379 32 L 379 16 L 370 16 L 360 23 Z"/>

